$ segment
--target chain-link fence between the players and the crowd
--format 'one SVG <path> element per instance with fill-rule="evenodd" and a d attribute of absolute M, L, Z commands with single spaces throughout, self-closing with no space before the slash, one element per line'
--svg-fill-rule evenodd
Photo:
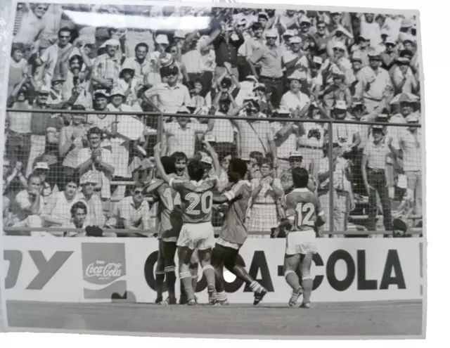
<path fill-rule="evenodd" d="M 71 236 L 81 226 L 98 226 L 110 236 L 151 236 L 157 231 L 158 202 L 143 193 L 158 175 L 155 144 L 161 143 L 162 155 L 174 157 L 176 175 L 187 178 L 193 158 L 203 162 L 205 175 L 212 173 L 207 140 L 221 165 L 217 193 L 229 186 L 232 157 L 248 163 L 252 236 L 273 235 L 285 213 L 285 195 L 293 190 L 294 167 L 308 169 L 309 188 L 326 212 L 323 236 L 420 233 L 423 159 L 417 118 L 406 117 L 404 123 L 289 113 L 266 118 L 251 105 L 212 110 L 215 115 L 190 111 L 8 109 L 4 231 Z M 32 132 L 15 131 L 20 122 L 29 122 Z M 214 207 L 217 228 L 222 214 Z"/>

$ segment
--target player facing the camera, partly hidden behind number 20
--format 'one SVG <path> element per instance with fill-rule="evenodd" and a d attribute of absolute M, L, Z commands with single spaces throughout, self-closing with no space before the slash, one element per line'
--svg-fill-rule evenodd
<path fill-rule="evenodd" d="M 176 177 L 175 160 L 172 157 L 162 157 L 162 167 L 171 178 Z M 158 205 L 158 263 L 156 265 L 156 291 L 155 303 L 176 304 L 175 296 L 175 252 L 176 240 L 181 231 L 181 198 L 180 194 L 169 186 L 168 183 L 158 178 L 146 188 L 146 193 L 153 196 L 153 202 Z M 162 300 L 164 281 L 167 281 L 169 297 Z"/>

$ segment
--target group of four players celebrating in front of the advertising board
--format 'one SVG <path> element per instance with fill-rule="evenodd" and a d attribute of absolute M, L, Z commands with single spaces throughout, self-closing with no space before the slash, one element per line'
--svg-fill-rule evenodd
<path fill-rule="evenodd" d="M 215 192 L 221 166 L 219 159 L 205 141 L 205 152 L 210 154 L 214 173 L 205 170 L 203 162 L 192 159 L 186 172 L 176 170 L 173 157 L 161 157 L 161 147 L 155 146 L 155 179 L 146 186 L 146 193 L 158 201 L 159 257 L 156 269 L 157 299 L 160 304 L 176 304 L 175 254 L 178 249 L 179 278 L 181 281 L 180 304 L 195 305 L 198 268 L 200 262 L 207 281 L 209 304 L 229 304 L 224 288 L 224 267 L 244 281 L 254 292 L 253 304 L 259 304 L 267 290 L 253 279 L 243 266 L 237 264 L 238 252 L 248 236 L 246 219 L 251 206 L 251 186 L 245 180 L 247 163 L 233 158 L 227 175 L 229 186 L 221 194 Z M 285 197 L 285 219 L 279 228 L 287 231 L 285 249 L 285 280 L 293 288 L 290 307 L 310 307 L 313 277 L 311 262 L 316 253 L 316 233 L 326 218 L 319 199 L 308 188 L 307 169 L 295 168 L 292 172 L 293 191 Z M 211 224 L 212 205 L 220 205 L 224 223 L 219 238 L 214 243 Z M 300 282 L 301 278 L 301 282 Z M 163 284 L 167 284 L 169 296 L 163 299 Z"/>

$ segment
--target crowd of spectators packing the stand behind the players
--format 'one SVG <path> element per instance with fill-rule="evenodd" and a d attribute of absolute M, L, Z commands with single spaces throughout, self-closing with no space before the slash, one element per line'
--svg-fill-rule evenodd
<path fill-rule="evenodd" d="M 123 21 L 127 28 L 96 27 L 115 23 L 103 19 L 117 14 L 132 18 Z M 152 27 L 157 19 L 186 16 L 206 18 L 207 25 Z M 270 234 L 277 226 L 295 166 L 309 170 L 311 190 L 326 212 L 333 202 L 324 231 L 330 224 L 334 231 L 392 231 L 396 216 L 420 217 L 422 129 L 416 124 L 422 86 L 415 20 L 264 8 L 18 4 L 4 226 L 127 228 L 141 236 L 139 230 L 155 227 L 155 207 L 143 190 L 155 174 L 158 134 L 179 166 L 195 156 L 211 166 L 202 151 L 202 141 L 210 141 L 224 169 L 219 191 L 226 188 L 231 157 L 248 161 L 252 233 Z M 180 115 L 165 115 L 160 123 L 158 116 L 121 115 L 142 111 Z M 335 123 L 330 131 L 321 120 L 359 123 Z M 139 134 L 124 136 L 127 124 Z M 220 226 L 219 207 L 215 214 Z"/>

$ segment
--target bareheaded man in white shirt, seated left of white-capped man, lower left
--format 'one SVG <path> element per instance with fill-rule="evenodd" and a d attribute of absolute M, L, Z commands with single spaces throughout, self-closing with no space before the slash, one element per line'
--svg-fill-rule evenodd
<path fill-rule="evenodd" d="M 68 179 L 64 191 L 49 196 L 41 215 L 44 227 L 59 227 L 70 222 L 72 206 L 80 198 L 77 194 L 78 185 L 77 178 Z"/>

